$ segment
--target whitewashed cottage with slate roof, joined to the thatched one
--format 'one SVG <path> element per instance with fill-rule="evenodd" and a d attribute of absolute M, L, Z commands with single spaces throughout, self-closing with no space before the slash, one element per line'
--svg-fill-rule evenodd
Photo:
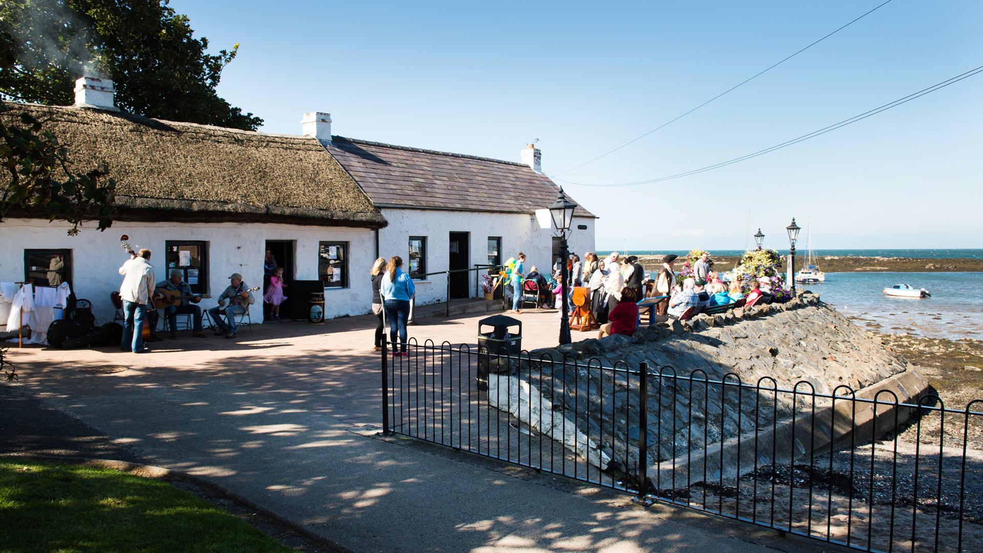
<path fill-rule="evenodd" d="M 418 304 L 447 296 L 447 276 L 427 274 L 499 265 L 520 251 L 527 271 L 536 265 L 549 272 L 558 258 L 559 240 L 536 212 L 556 201 L 559 187 L 543 174 L 533 145 L 522 151 L 522 162 L 503 161 L 332 136 L 330 124 L 329 114 L 308 113 L 304 132 L 321 141 L 385 216 L 379 254 L 402 257 L 418 275 Z M 570 252 L 583 257 L 594 249 L 596 218 L 577 206 Z M 450 297 L 481 296 L 483 274 L 451 274 Z"/>

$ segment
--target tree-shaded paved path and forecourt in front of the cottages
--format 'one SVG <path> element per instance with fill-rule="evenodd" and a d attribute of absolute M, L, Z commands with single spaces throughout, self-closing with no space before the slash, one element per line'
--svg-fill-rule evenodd
<path fill-rule="evenodd" d="M 410 334 L 473 343 L 480 318 L 422 320 Z M 527 348 L 554 343 L 554 314 L 520 318 Z M 354 551 L 831 549 L 685 510 L 641 509 L 621 494 L 412 440 L 380 439 L 374 326 L 373 317 L 320 327 L 267 324 L 235 341 L 166 340 L 147 355 L 14 346 L 22 381 L 0 386 Z"/>

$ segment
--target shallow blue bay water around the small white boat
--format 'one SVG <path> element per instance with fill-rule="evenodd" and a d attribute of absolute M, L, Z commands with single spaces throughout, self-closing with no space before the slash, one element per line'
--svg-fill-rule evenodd
<path fill-rule="evenodd" d="M 895 284 L 925 288 L 932 296 L 885 295 L 884 288 Z M 824 302 L 870 330 L 923 338 L 983 339 L 983 273 L 827 273 L 825 282 L 796 286 L 819 294 Z"/>

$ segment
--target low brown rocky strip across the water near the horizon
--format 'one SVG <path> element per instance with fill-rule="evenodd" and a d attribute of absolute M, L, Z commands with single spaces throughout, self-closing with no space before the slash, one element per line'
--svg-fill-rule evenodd
<path fill-rule="evenodd" d="M 662 267 L 662 256 L 639 256 L 639 263 L 646 271 L 656 271 Z M 740 259 L 732 256 L 714 257 L 715 271 L 730 271 Z M 803 261 L 795 257 L 795 265 Z M 894 273 L 954 273 L 983 272 L 983 259 L 928 259 L 900 257 L 853 257 L 822 256 L 815 258 L 816 265 L 825 273 L 853 273 L 888 271 Z M 676 262 L 676 270 L 681 263 Z"/>

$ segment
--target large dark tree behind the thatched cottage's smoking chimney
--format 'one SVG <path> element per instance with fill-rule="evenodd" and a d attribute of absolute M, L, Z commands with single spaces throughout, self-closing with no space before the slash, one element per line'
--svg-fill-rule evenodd
<path fill-rule="evenodd" d="M 73 102 L 83 74 L 113 80 L 121 109 L 173 121 L 256 130 L 262 119 L 215 92 L 239 44 L 208 54 L 188 17 L 167 0 L 4 0 L 0 31 L 14 37 L 14 64 L 0 94 L 52 105 Z"/>

